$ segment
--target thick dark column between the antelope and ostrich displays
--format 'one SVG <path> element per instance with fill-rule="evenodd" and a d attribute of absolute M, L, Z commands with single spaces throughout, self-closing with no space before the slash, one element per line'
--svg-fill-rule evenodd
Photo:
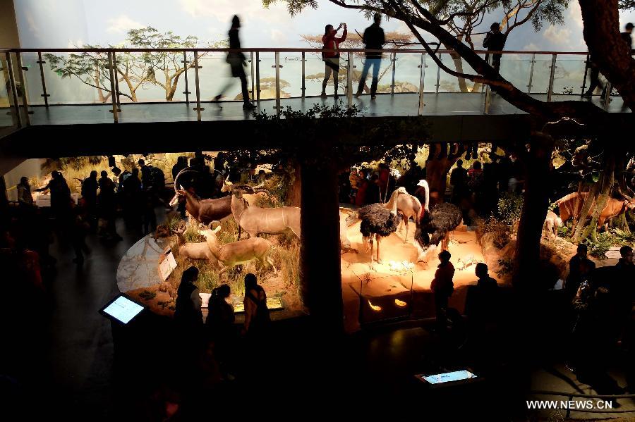
<path fill-rule="evenodd" d="M 337 168 L 303 163 L 301 174 L 300 296 L 315 328 L 330 337 L 343 333 Z"/>

